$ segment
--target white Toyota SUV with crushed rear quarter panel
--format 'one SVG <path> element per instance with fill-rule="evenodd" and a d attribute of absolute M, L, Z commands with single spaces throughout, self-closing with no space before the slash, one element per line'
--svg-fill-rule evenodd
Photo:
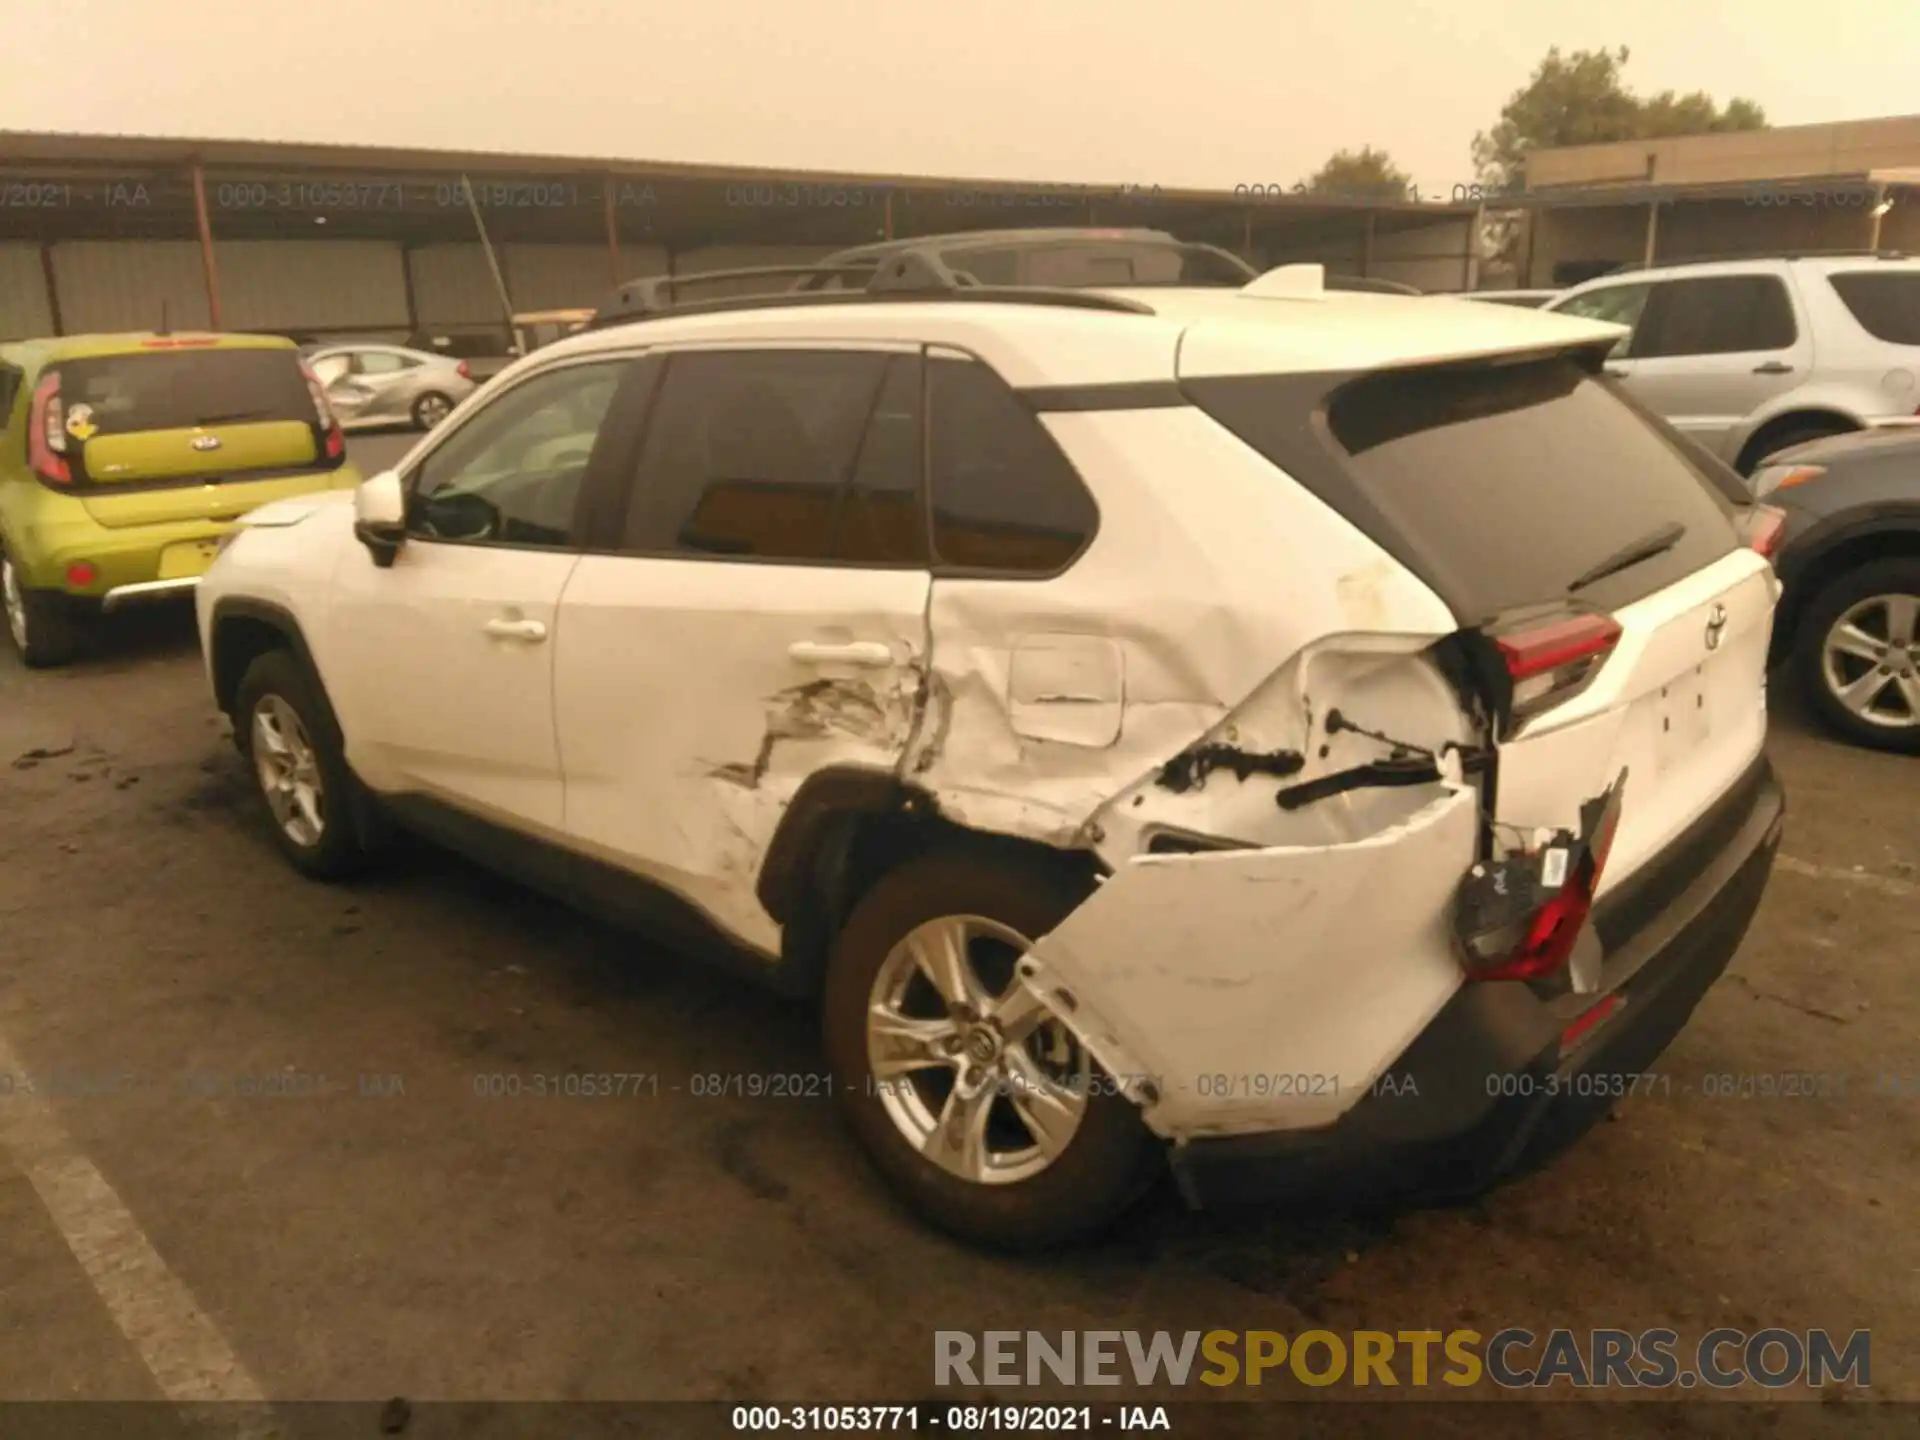
<path fill-rule="evenodd" d="M 818 996 L 874 1164 L 1010 1248 L 1167 1160 L 1473 1192 L 1726 968 L 1780 516 L 1619 326 L 912 250 L 649 294 L 202 582 L 301 872 L 399 824 Z"/>

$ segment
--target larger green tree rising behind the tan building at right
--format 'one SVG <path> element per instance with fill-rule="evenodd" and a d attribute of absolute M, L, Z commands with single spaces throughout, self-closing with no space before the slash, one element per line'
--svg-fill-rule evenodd
<path fill-rule="evenodd" d="M 1766 111 L 1753 100 L 1722 109 L 1705 90 L 1640 98 L 1620 71 L 1628 50 L 1548 50 L 1532 79 L 1515 90 L 1492 131 L 1473 136 L 1473 163 L 1482 184 L 1517 188 L 1530 150 L 1645 140 L 1715 131 L 1763 131 Z"/>

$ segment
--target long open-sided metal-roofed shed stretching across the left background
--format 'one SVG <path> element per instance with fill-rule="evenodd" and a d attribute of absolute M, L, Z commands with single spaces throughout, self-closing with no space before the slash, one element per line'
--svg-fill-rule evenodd
<path fill-rule="evenodd" d="M 165 315 L 503 346 L 509 307 L 593 305 L 643 275 L 1014 225 L 1165 228 L 1423 290 L 1478 280 L 1469 204 L 15 131 L 0 132 L 0 338 Z"/>

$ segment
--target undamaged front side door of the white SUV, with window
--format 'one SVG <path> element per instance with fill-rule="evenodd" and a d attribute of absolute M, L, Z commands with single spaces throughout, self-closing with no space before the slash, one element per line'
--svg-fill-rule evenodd
<path fill-rule="evenodd" d="M 403 476 L 394 564 L 344 557 L 328 687 L 374 789 L 559 829 L 555 626 L 588 461 L 628 365 L 528 376 L 449 426 Z"/>

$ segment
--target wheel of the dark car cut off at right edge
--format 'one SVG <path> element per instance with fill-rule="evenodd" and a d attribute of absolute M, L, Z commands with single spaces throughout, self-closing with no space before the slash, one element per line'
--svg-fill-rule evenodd
<path fill-rule="evenodd" d="M 1920 755 L 1920 559 L 1862 564 L 1814 595 L 1793 664 L 1830 732 Z"/>

